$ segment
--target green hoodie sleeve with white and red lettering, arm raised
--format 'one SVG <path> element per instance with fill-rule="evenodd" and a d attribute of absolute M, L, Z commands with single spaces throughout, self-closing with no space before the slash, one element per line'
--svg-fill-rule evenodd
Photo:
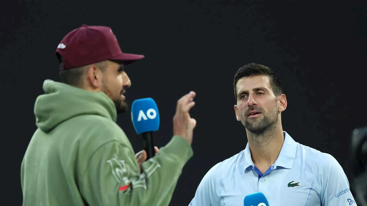
<path fill-rule="evenodd" d="M 88 205 L 168 206 L 179 175 L 192 157 L 181 136 L 148 161 L 140 173 L 131 146 L 109 141 L 94 152 L 82 176 L 80 193 Z"/>

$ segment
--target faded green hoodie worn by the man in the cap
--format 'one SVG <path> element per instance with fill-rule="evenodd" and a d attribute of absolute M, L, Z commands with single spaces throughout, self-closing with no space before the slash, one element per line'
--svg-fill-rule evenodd
<path fill-rule="evenodd" d="M 168 205 L 192 148 L 181 136 L 142 164 L 103 92 L 51 80 L 34 105 L 36 125 L 21 166 L 23 205 Z"/>

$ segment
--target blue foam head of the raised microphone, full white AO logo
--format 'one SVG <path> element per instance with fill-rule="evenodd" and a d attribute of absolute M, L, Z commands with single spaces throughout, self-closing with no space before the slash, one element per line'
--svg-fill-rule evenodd
<path fill-rule="evenodd" d="M 152 98 L 137 99 L 132 102 L 131 120 L 138 134 L 157 131 L 159 128 L 159 111 Z"/>

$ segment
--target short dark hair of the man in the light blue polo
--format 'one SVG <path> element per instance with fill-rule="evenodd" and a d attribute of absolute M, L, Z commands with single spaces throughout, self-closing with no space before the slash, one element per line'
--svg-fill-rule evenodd
<path fill-rule="evenodd" d="M 275 96 L 283 94 L 283 87 L 281 85 L 280 79 L 276 76 L 275 72 L 267 66 L 260 65 L 257 63 L 249 63 L 243 67 L 240 67 L 233 80 L 233 88 L 235 89 L 235 98 L 237 100 L 237 81 L 242 77 L 253 77 L 258 75 L 265 75 L 270 78 L 270 86 L 273 89 Z"/>

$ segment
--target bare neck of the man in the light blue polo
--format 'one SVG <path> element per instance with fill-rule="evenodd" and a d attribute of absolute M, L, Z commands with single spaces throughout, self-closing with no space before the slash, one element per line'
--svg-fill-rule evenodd
<path fill-rule="evenodd" d="M 280 123 L 280 121 L 278 121 Z M 246 129 L 252 162 L 269 167 L 279 156 L 284 142 L 283 128 L 280 124 L 270 126 L 262 133 L 255 134 Z"/>

